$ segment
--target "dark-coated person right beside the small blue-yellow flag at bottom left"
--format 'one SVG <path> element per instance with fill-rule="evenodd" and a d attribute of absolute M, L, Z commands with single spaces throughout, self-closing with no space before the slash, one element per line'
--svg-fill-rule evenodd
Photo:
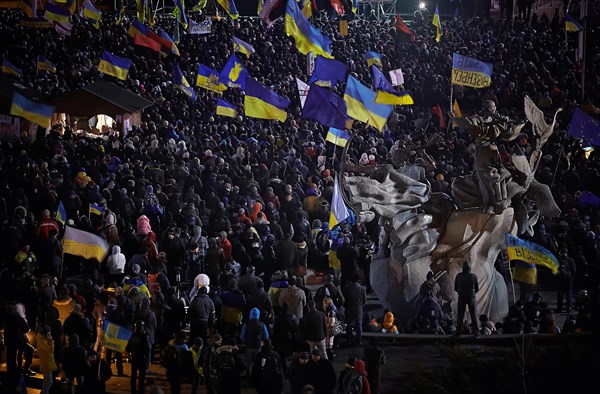
<path fill-rule="evenodd" d="M 133 334 L 125 347 L 131 361 L 131 394 L 145 393 L 146 370 L 150 356 L 150 342 L 145 326 L 141 320 L 135 322 Z"/>

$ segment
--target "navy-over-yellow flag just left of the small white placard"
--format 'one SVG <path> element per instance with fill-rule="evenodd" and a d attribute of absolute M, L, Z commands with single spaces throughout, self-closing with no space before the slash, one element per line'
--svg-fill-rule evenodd
<path fill-rule="evenodd" d="M 246 80 L 245 90 L 244 113 L 246 116 L 285 122 L 287 119 L 285 108 L 290 105 L 290 100 L 279 96 L 250 77 Z"/>

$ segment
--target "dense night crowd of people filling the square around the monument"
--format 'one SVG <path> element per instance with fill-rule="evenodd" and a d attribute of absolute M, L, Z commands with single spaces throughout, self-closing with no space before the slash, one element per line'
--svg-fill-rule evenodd
<path fill-rule="evenodd" d="M 351 392 L 359 385 L 360 392 L 377 393 L 383 351 L 372 341 L 336 371 L 332 359 L 340 340 L 362 345 L 364 331 L 456 332 L 456 318 L 438 299 L 433 275 L 422 286 L 423 308 L 414 325 L 398 324 L 393 311 L 364 313 L 373 291 L 369 263 L 379 247 L 377 221 L 329 228 L 341 149 L 326 143 L 322 126 L 299 117 L 295 77 L 309 76 L 304 56 L 280 24 L 213 20 L 208 35 L 181 35 L 181 56 L 150 58 L 132 45 L 127 16 L 120 24 L 105 16 L 99 29 L 73 17 L 70 36 L 20 26 L 21 17 L 17 11 L 0 13 L 0 52 L 21 68 L 23 85 L 51 97 L 110 78 L 96 68 L 107 50 L 133 59 L 128 79 L 116 82 L 155 104 L 126 133 L 117 124 L 95 138 L 72 124 L 56 124 L 47 133 L 0 141 L 6 387 L 14 389 L 21 374 L 34 374 L 37 349 L 43 393 L 59 369 L 82 392 L 104 392 L 115 373 L 112 364 L 123 375 L 125 360 L 131 363 L 132 394 L 145 392 L 153 362 L 164 366 L 174 394 L 188 378 L 193 392 L 200 384 L 209 393 L 239 392 L 240 376 L 259 393 L 281 392 L 284 379 L 294 393 L 331 393 L 336 387 Z M 424 166 L 433 191 L 450 194 L 453 180 L 470 173 L 474 160 L 469 134 L 445 130 L 430 116 L 432 108 L 448 107 L 453 52 L 494 65 L 490 88 L 456 87 L 463 113 L 492 100 L 499 112 L 524 119 L 524 95 L 549 113 L 565 109 L 537 171 L 540 182 L 552 186 L 562 215 L 540 220 L 531 239 L 557 255 L 564 251 L 573 262 L 565 279 L 570 286 L 564 331 L 597 329 L 598 154 L 566 130 L 574 108 L 600 112 L 600 73 L 597 64 L 588 70 L 594 77 L 580 102 L 582 66 L 565 46 L 558 17 L 448 19 L 440 43 L 430 21 L 420 18 L 411 25 L 414 42 L 392 20 L 354 19 L 348 37 L 340 35 L 337 21 L 319 17 L 316 23 L 333 38 L 333 55 L 352 75 L 370 81 L 364 53 L 378 52 L 385 70 L 402 68 L 415 101 L 396 107 L 383 134 L 355 122 L 347 159 L 385 164 L 393 149 L 412 146 L 407 160 Z M 157 18 L 157 25 L 172 31 L 174 21 Z M 216 93 L 196 89 L 198 99 L 191 101 L 172 84 L 175 64 L 188 81 L 200 63 L 221 69 L 233 34 L 256 48 L 250 57 L 239 54 L 250 74 L 292 100 L 285 123 L 242 117 L 243 97 L 235 89 L 223 97 L 240 115 L 219 117 Z M 55 62 L 58 72 L 36 72 L 37 56 Z M 343 94 L 340 89 L 333 88 Z M 521 133 L 514 145 L 499 146 L 503 160 L 518 149 L 532 150 L 530 128 Z M 420 160 L 424 153 L 415 147 L 432 138 L 437 142 L 427 148 L 427 161 Z M 60 203 L 64 224 L 56 220 Z M 91 204 L 97 206 L 93 212 Z M 100 235 L 109 255 L 95 261 L 64 254 L 65 226 Z M 305 283 L 309 268 L 326 273 L 316 291 Z M 575 314 L 573 292 L 579 290 L 588 302 Z M 502 328 L 483 315 L 477 330 L 557 332 L 547 318 L 552 311 L 539 294 L 530 296 L 511 305 Z M 435 319 L 426 308 L 435 309 Z M 125 352 L 103 349 L 105 322 L 132 330 Z M 462 319 L 458 323 L 459 331 L 469 330 Z"/>

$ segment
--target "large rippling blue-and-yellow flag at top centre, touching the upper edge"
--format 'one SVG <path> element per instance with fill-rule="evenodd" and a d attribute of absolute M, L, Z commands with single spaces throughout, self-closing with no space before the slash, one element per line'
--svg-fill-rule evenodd
<path fill-rule="evenodd" d="M 331 39 L 324 36 L 319 29 L 310 24 L 308 19 L 300 12 L 295 0 L 288 0 L 285 9 L 285 34 L 294 37 L 296 48 L 306 55 L 314 52 L 326 58 L 331 55 Z"/>

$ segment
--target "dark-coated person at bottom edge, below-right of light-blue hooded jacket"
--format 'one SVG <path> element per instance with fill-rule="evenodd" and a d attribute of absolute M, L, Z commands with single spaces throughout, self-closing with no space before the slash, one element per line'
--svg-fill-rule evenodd
<path fill-rule="evenodd" d="M 282 361 L 273 350 L 270 340 L 265 340 L 260 352 L 254 358 L 251 382 L 258 394 L 280 394 L 283 391 Z"/>

